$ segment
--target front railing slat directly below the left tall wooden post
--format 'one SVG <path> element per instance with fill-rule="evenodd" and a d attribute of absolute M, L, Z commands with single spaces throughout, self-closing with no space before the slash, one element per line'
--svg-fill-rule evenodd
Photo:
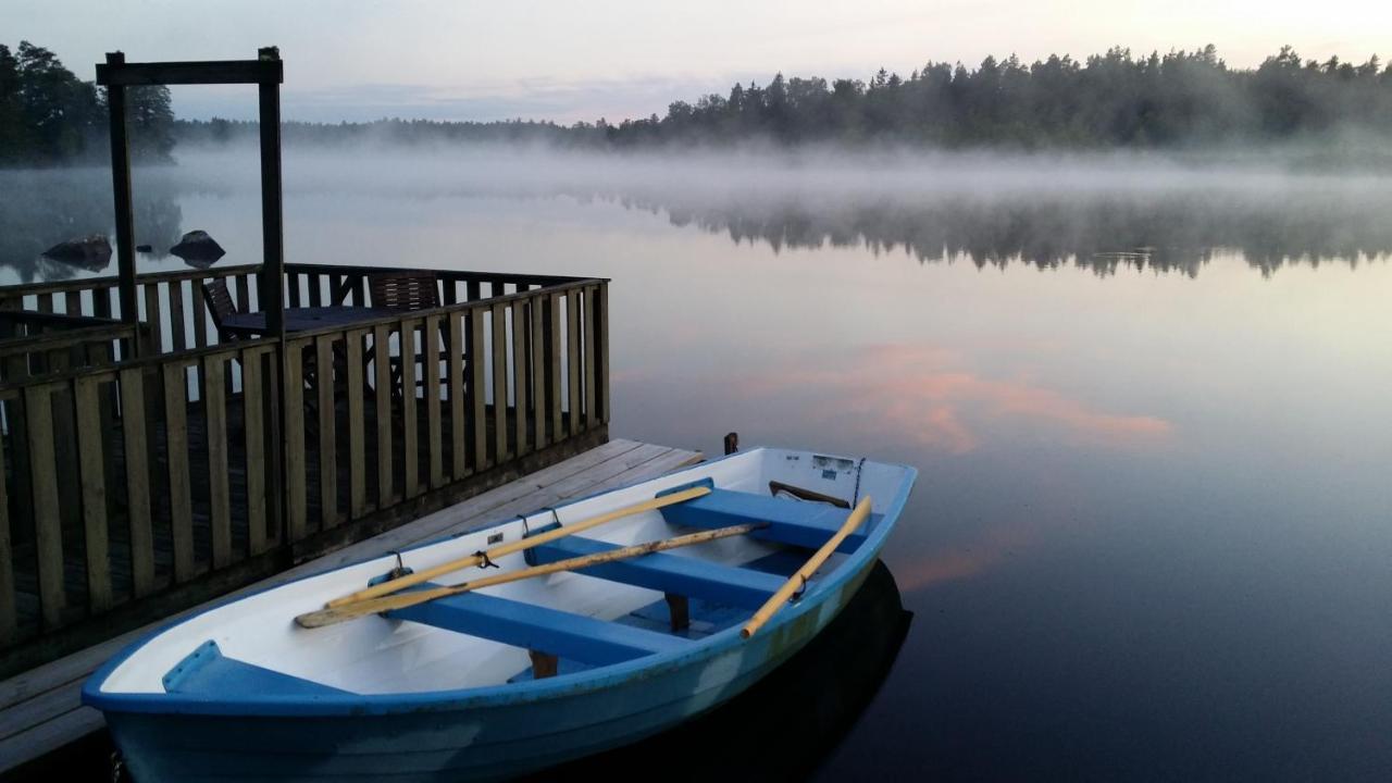
<path fill-rule="evenodd" d="M 125 440 L 125 510 L 131 531 L 131 591 L 155 589 L 155 531 L 150 515 L 150 454 L 146 439 L 145 371 L 121 371 L 121 436 Z"/>

